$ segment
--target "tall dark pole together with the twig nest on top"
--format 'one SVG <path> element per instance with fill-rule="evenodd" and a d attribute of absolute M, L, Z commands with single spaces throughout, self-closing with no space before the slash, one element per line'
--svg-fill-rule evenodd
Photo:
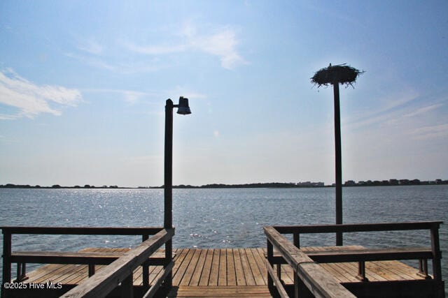
<path fill-rule="evenodd" d="M 339 108 L 339 83 L 351 85 L 356 82 L 356 77 L 364 73 L 351 66 L 331 64 L 327 68 L 318 70 L 311 82 L 318 87 L 333 85 L 333 95 L 335 99 L 335 188 L 336 188 L 336 224 L 342 224 L 342 153 L 341 153 L 341 112 Z M 336 245 L 342 246 L 342 232 L 336 232 Z"/>

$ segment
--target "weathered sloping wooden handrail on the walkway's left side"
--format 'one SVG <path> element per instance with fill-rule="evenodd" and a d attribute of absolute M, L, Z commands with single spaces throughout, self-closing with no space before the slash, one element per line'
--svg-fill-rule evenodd
<path fill-rule="evenodd" d="M 132 272 L 134 269 L 146 262 L 151 254 L 172 239 L 173 236 L 173 229 L 164 229 L 158 232 L 61 297 L 106 297 L 120 283 L 124 287 L 126 282 L 131 283 L 130 290 L 132 292 Z"/>

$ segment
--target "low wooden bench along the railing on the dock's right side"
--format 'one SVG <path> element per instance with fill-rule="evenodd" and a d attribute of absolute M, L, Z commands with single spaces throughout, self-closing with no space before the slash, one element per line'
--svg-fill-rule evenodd
<path fill-rule="evenodd" d="M 358 262 L 358 278 L 360 281 L 368 281 L 365 277 L 365 262 L 387 260 L 419 260 L 419 276 L 430 279 L 428 275 L 428 259 L 433 258 L 431 248 L 407 247 L 407 248 L 361 248 L 361 246 L 329 246 L 321 251 L 307 251 L 304 253 L 312 260 L 319 263 Z M 267 257 L 267 255 L 265 255 Z M 287 264 L 280 253 L 274 252 L 273 262 L 276 265 Z M 277 266 L 277 276 L 280 270 Z"/>

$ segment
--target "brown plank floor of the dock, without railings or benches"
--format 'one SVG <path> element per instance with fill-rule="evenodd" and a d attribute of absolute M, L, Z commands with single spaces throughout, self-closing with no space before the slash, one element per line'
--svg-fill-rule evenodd
<path fill-rule="evenodd" d="M 351 248 L 356 248 L 351 246 Z M 323 248 L 302 248 L 305 253 Z M 326 248 L 328 249 L 328 248 Z M 337 249 L 337 248 L 335 248 Z M 124 253 L 127 248 L 85 248 L 83 252 Z M 173 250 L 173 287 L 163 297 L 272 297 L 267 288 L 266 248 L 178 248 Z M 160 249 L 156 254 L 163 255 Z M 362 283 L 357 262 L 321 264 L 340 283 Z M 97 265 L 99 273 L 105 265 Z M 281 278 L 293 285 L 293 269 L 280 265 Z M 419 270 L 398 261 L 366 262 L 369 281 L 421 280 Z M 150 266 L 149 284 L 162 272 Z M 88 278 L 87 265 L 44 265 L 27 273 L 25 283 L 63 283 L 76 285 Z M 143 285 L 141 267 L 133 274 L 133 284 Z"/>

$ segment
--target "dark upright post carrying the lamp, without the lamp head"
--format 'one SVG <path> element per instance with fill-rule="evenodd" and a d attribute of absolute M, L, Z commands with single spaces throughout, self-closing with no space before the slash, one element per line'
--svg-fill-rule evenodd
<path fill-rule="evenodd" d="M 167 99 L 165 105 L 165 184 L 164 184 L 164 223 L 165 229 L 173 227 L 173 101 Z M 165 259 L 172 259 L 172 239 L 165 244 Z M 165 279 L 167 286 L 172 286 L 172 272 Z"/>

